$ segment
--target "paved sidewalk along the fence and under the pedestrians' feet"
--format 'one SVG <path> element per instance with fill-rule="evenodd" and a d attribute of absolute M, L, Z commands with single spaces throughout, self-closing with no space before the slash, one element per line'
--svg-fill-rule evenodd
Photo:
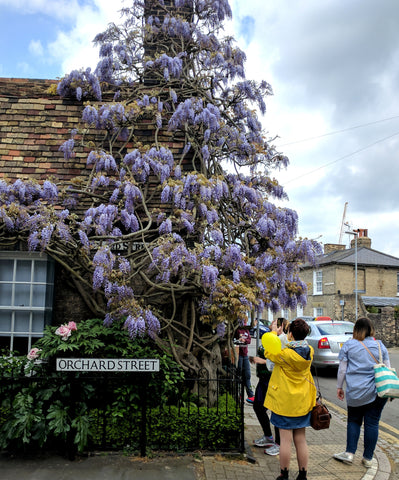
<path fill-rule="evenodd" d="M 327 402 L 326 402 L 327 403 Z M 377 446 L 373 466 L 361 464 L 362 439 L 352 465 L 334 460 L 345 450 L 346 423 L 342 413 L 332 414 L 328 430 L 306 431 L 309 445 L 309 480 L 393 480 L 391 464 Z M 275 480 L 280 473 L 278 456 L 253 446 L 262 431 L 251 405 L 244 407 L 246 452 L 242 456 L 164 455 L 156 458 L 95 454 L 74 461 L 63 457 L 9 458 L 0 455 L 1 480 Z M 298 473 L 292 448 L 290 478 Z"/>

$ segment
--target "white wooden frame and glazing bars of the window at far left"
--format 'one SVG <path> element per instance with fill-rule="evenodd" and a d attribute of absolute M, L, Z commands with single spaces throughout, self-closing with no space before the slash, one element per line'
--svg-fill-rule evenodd
<path fill-rule="evenodd" d="M 27 347 L 29 350 L 32 347 L 32 343 L 34 343 L 34 339 L 43 336 L 45 325 L 51 323 L 54 292 L 54 262 L 43 253 L 15 251 L 0 252 L 0 268 L 3 266 L 2 268 L 5 269 L 4 261 L 11 263 L 12 272 L 11 269 L 8 270 L 8 272 L 11 272 L 8 278 L 5 278 L 6 275 L 4 275 L 4 272 L 3 275 L 0 275 L 0 336 L 9 337 L 9 348 L 11 351 L 14 350 L 16 338 L 25 338 L 27 339 Z M 18 278 L 17 267 L 21 265 L 19 263 L 21 261 L 23 261 L 25 265 L 27 261 L 30 262 L 30 278 Z M 42 265 L 39 265 L 39 262 L 41 262 Z M 43 262 L 45 263 L 45 278 L 38 280 L 38 267 L 43 268 Z M 6 272 L 6 269 L 4 271 Z M 35 290 L 40 288 L 43 298 L 38 302 L 38 296 L 35 295 Z M 23 296 L 25 296 L 25 298 L 29 297 L 29 300 L 27 304 L 18 305 L 18 296 L 22 291 Z M 10 295 L 7 296 L 5 294 L 6 292 L 9 292 Z M 1 298 L 2 295 L 4 295 L 4 298 Z M 9 301 L 7 302 L 8 298 Z M 2 313 L 4 313 L 3 319 L 1 319 Z M 6 324 L 8 319 L 6 316 L 8 314 L 10 314 L 10 327 L 7 329 Z M 18 314 L 28 318 L 27 328 L 18 327 Z M 39 329 L 37 328 L 38 324 L 41 327 Z"/>

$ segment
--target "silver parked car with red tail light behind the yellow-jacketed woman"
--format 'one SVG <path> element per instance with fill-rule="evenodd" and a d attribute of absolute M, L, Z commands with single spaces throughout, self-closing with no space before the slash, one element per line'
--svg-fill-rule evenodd
<path fill-rule="evenodd" d="M 306 340 L 314 348 L 312 365 L 337 368 L 339 351 L 342 345 L 352 338 L 354 324 L 322 318 L 326 317 L 316 317 L 312 320 L 303 318 L 310 326 L 310 333 Z"/>

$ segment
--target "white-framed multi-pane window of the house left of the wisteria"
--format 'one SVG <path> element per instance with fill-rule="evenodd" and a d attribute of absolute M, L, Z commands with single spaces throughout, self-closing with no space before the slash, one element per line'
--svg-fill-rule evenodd
<path fill-rule="evenodd" d="M 51 323 L 54 262 L 31 252 L 0 252 L 0 347 L 23 354 Z"/>

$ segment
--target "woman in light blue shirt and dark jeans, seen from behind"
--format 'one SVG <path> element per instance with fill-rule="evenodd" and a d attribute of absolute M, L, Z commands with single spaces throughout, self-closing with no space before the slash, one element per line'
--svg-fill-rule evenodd
<path fill-rule="evenodd" d="M 360 429 L 364 423 L 364 450 L 362 463 L 371 467 L 378 440 L 381 412 L 387 399 L 377 395 L 374 383 L 374 365 L 381 349 L 383 362 L 390 366 L 389 355 L 381 340 L 375 340 L 375 329 L 367 317 L 359 318 L 353 328 L 353 338 L 346 341 L 339 352 L 337 375 L 337 397 L 344 400 L 348 408 L 346 450 L 336 453 L 334 458 L 351 464 L 357 450 Z M 379 361 L 378 361 L 379 363 Z"/>

